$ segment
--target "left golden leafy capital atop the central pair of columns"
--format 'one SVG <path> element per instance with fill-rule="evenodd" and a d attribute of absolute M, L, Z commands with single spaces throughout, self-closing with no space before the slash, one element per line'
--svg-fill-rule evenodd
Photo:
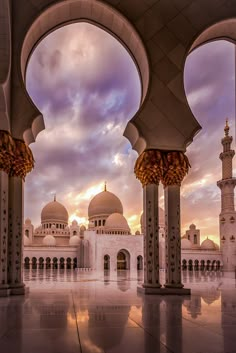
<path fill-rule="evenodd" d="M 142 186 L 148 184 L 159 185 L 163 174 L 163 158 L 159 150 L 146 150 L 136 160 L 134 173 Z"/>

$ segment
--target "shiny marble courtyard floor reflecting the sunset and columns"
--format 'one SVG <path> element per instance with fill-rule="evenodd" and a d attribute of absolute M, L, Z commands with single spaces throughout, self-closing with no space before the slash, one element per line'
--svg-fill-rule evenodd
<path fill-rule="evenodd" d="M 184 272 L 187 297 L 138 295 L 142 273 L 24 275 L 29 294 L 0 298 L 1 353 L 236 352 L 234 274 Z"/>

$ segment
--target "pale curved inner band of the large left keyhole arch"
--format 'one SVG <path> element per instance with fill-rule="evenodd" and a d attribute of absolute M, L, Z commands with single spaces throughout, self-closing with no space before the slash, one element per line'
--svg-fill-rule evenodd
<path fill-rule="evenodd" d="M 37 44 L 50 32 L 75 22 L 88 22 L 105 30 L 115 37 L 129 52 L 137 67 L 141 83 L 141 104 L 149 87 L 149 61 L 142 40 L 133 25 L 116 9 L 108 4 L 93 0 L 68 0 L 46 8 L 32 21 L 22 43 L 20 71 L 23 81 L 29 58 Z M 39 111 L 31 128 L 24 131 L 24 139 L 29 144 L 44 129 Z"/>

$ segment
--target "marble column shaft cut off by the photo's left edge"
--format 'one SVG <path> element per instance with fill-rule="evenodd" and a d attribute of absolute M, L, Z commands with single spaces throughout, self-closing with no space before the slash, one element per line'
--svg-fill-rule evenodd
<path fill-rule="evenodd" d="M 8 174 L 0 171 L 0 297 L 10 294 L 7 281 Z"/>

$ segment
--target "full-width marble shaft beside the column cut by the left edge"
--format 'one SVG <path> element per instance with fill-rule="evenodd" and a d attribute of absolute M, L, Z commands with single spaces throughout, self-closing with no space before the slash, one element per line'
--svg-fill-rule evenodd
<path fill-rule="evenodd" d="M 23 180 L 9 177 L 8 284 L 12 295 L 24 294 L 23 283 Z"/>

